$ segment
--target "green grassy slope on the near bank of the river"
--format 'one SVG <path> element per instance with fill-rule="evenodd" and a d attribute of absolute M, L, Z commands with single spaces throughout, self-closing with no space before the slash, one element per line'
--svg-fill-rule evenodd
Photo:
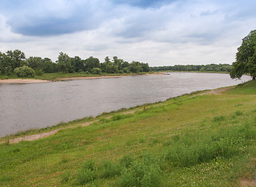
<path fill-rule="evenodd" d="M 0 186 L 240 186 L 254 177 L 255 94 L 251 81 L 2 144 Z"/>

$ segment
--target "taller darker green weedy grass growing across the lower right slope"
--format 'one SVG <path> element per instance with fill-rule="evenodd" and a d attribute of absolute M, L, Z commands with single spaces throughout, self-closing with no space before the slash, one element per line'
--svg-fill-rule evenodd
<path fill-rule="evenodd" d="M 213 123 L 229 122 L 232 117 L 217 116 Z M 119 178 L 118 186 L 162 186 L 163 176 L 170 168 L 192 168 L 198 164 L 229 160 L 242 156 L 247 147 L 254 144 L 256 125 L 254 122 L 243 122 L 233 127 L 223 126 L 214 133 L 198 134 L 189 132 L 172 136 L 163 142 L 160 153 L 142 154 L 134 157 L 126 154 L 119 162 L 102 161 L 85 163 L 78 172 L 80 185 L 100 178 Z"/>

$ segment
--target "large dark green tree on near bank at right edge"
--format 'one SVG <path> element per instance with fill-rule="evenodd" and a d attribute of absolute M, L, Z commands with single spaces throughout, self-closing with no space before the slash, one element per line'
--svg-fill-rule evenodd
<path fill-rule="evenodd" d="M 256 78 L 256 30 L 251 30 L 237 48 L 236 62 L 233 62 L 230 77 L 240 79 L 244 74 Z"/>

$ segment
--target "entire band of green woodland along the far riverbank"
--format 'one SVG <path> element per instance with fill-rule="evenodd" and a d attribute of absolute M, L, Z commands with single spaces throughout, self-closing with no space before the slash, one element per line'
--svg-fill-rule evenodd
<path fill-rule="evenodd" d="M 25 67 L 24 67 L 25 66 Z M 23 51 L 0 52 L 0 74 L 17 76 L 41 76 L 43 73 L 73 73 L 84 72 L 87 74 L 101 73 L 139 73 L 150 71 L 201 71 L 201 72 L 230 72 L 232 65 L 211 64 L 211 65 L 174 65 L 149 67 L 148 63 L 126 62 L 118 57 L 112 59 L 106 57 L 105 62 L 100 62 L 98 58 L 89 57 L 81 59 L 79 56 L 73 58 L 66 53 L 60 52 L 58 60 L 52 62 L 50 58 L 29 57 L 26 58 Z"/>

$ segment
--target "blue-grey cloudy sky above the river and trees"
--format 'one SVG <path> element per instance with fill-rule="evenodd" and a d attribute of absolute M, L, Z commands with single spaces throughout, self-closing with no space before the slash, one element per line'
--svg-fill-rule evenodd
<path fill-rule="evenodd" d="M 150 66 L 232 63 L 255 0 L 0 0 L 0 51 Z"/>

